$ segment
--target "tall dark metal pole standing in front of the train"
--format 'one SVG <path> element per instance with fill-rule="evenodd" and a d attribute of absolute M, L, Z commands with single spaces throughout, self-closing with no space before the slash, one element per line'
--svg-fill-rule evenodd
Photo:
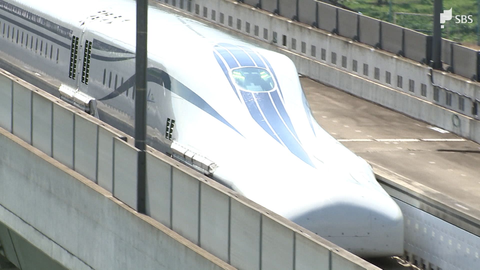
<path fill-rule="evenodd" d="M 135 147 L 138 153 L 137 211 L 145 213 L 145 140 L 147 88 L 148 0 L 137 0 L 137 43 L 135 58 Z"/>

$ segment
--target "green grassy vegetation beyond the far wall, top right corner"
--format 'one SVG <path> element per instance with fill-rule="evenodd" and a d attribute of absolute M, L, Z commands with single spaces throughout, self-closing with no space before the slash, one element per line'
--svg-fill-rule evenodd
<path fill-rule="evenodd" d="M 443 37 L 461 42 L 465 45 L 477 44 L 477 19 L 478 2 L 480 0 L 444 0 L 444 9 L 453 8 L 452 14 L 456 15 L 473 15 L 472 24 L 456 24 L 456 19 L 447 21 L 443 29 Z M 377 18 L 383 21 L 389 20 L 389 0 L 338 0 L 338 2 L 347 7 L 361 12 L 364 15 Z M 392 0 L 392 20 L 396 17 L 396 24 L 414 29 L 432 35 L 433 17 L 419 16 L 408 14 L 396 14 L 395 12 L 409 12 L 433 14 L 433 0 Z"/>

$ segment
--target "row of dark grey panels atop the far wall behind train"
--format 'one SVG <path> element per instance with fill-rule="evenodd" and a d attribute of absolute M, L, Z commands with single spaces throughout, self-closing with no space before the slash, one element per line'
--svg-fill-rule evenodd
<path fill-rule="evenodd" d="M 420 63 L 428 64 L 428 61 L 431 59 L 431 36 L 373 19 L 356 12 L 350 12 L 324 2 L 312 1 L 313 0 L 262 0 L 262 5 L 265 6 L 264 10 L 274 12 L 278 3 L 278 14 L 281 16 L 292 19 L 295 17 L 295 14 L 298 14 L 300 16 L 298 21 L 302 23 L 318 25 L 320 29 L 335 32 L 342 37 L 360 40 L 362 43 L 382 48 Z M 256 5 L 252 0 L 243 2 L 253 6 Z M 316 22 L 312 22 L 312 20 L 315 19 L 314 14 L 312 14 L 312 11 L 315 11 L 313 4 L 316 4 L 318 7 Z M 357 27 L 357 17 L 361 21 L 359 27 Z M 372 26 L 372 28 L 368 28 L 367 25 Z M 377 27 L 378 25 L 382 25 L 382 31 L 379 31 L 380 28 Z M 361 35 L 363 35 L 364 38 L 358 39 Z M 382 40 L 382 47 L 377 46 L 379 43 L 375 41 L 377 37 Z M 443 44 L 447 46 L 442 49 L 441 59 L 444 63 L 451 66 L 453 62 L 451 61 L 451 57 L 454 54 L 452 54 L 452 48 L 448 46 L 450 43 L 451 41 L 443 39 Z M 453 57 L 456 58 L 455 55 Z M 468 59 L 467 65 L 461 64 L 465 62 L 465 59 L 461 56 L 456 61 L 458 61 L 458 70 L 451 69 L 449 71 L 465 76 L 468 79 L 472 79 L 472 74 L 474 74 L 474 80 L 478 81 L 480 79 L 477 68 L 479 60 L 477 58 Z"/>

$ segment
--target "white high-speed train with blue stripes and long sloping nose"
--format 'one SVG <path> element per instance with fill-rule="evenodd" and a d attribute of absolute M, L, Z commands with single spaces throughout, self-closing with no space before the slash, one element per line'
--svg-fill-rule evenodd
<path fill-rule="evenodd" d="M 132 128 L 135 21 L 132 0 L 0 0 L 0 50 Z M 403 253 L 399 207 L 314 120 L 292 61 L 153 7 L 148 24 L 159 150 L 357 255 Z"/>

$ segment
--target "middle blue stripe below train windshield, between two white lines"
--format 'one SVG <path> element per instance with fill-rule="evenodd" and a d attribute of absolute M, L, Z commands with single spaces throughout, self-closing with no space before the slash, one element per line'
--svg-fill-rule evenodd
<path fill-rule="evenodd" d="M 291 135 L 285 124 L 280 119 L 280 116 L 273 107 L 272 100 L 270 99 L 268 93 L 255 93 L 254 95 L 257 99 L 258 105 L 260 106 L 260 109 L 265 115 L 266 120 L 274 129 L 276 135 L 280 137 L 280 140 L 282 140 L 285 146 L 287 146 L 288 150 L 300 158 L 300 160 L 303 160 L 310 166 L 315 167 L 303 147 L 299 144 L 299 142 L 297 142 L 295 137 Z"/>

